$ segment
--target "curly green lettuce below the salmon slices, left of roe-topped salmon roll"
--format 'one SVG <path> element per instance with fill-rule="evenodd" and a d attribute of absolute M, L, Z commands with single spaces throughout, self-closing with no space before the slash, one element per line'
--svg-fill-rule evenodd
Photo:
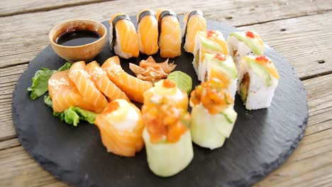
<path fill-rule="evenodd" d="M 44 96 L 44 102 L 46 105 L 52 107 L 50 96 Z M 67 108 L 62 113 L 53 111 L 53 115 L 60 118 L 60 120 L 65 121 L 65 123 L 74 125 L 75 127 L 78 125 L 79 120 L 85 120 L 90 124 L 94 124 L 94 120 L 96 119 L 96 113 L 84 110 L 78 106 L 70 106 L 70 108 Z"/>

